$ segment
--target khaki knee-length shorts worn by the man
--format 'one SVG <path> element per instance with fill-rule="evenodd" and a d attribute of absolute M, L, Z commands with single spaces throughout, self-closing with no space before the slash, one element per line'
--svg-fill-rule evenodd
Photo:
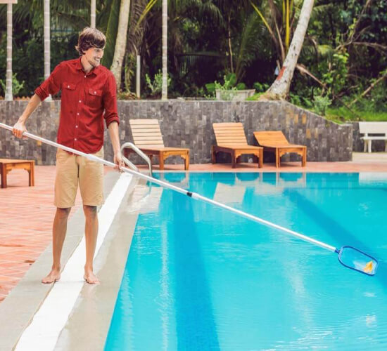
<path fill-rule="evenodd" d="M 103 147 L 94 155 L 103 158 Z M 103 164 L 58 149 L 53 204 L 59 208 L 74 206 L 78 183 L 84 205 L 103 204 Z"/>

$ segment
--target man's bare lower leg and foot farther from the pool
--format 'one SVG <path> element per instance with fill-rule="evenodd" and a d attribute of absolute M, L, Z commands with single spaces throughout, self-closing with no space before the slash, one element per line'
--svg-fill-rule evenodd
<path fill-rule="evenodd" d="M 67 231 L 68 215 L 71 208 L 56 208 L 55 218 L 52 228 L 52 256 L 53 264 L 51 272 L 42 279 L 42 283 L 51 284 L 61 279 L 61 254 L 63 241 L 65 241 Z"/>

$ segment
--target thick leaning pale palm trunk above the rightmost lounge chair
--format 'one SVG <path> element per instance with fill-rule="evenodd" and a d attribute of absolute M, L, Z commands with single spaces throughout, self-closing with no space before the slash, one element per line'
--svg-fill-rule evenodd
<path fill-rule="evenodd" d="M 301 48 L 303 48 L 307 24 L 309 23 L 314 2 L 315 0 L 304 0 L 303 8 L 301 8 L 300 12 L 300 18 L 298 19 L 298 24 L 293 34 L 293 39 L 291 40 L 291 45 L 286 55 L 284 64 L 282 65 L 277 79 L 267 90 L 267 93 L 273 98 L 286 98 L 290 91 L 291 79 L 293 78 L 294 69 L 296 68 Z"/>

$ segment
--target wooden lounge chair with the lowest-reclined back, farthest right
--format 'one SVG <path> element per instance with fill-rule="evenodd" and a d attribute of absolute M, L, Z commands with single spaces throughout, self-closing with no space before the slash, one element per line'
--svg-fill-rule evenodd
<path fill-rule="evenodd" d="M 281 156 L 289 152 L 299 154 L 302 166 L 306 165 L 306 146 L 289 144 L 281 131 L 255 131 L 254 137 L 264 151 L 274 152 L 277 168 L 281 166 Z"/>

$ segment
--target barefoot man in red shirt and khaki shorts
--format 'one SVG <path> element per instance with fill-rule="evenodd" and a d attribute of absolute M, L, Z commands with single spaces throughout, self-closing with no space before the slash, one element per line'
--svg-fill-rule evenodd
<path fill-rule="evenodd" d="M 61 119 L 58 143 L 87 154 L 103 157 L 103 121 L 113 145 L 114 163 L 124 166 L 120 152 L 116 86 L 113 74 L 100 65 L 106 37 L 98 29 L 85 28 L 78 39 L 80 58 L 61 62 L 50 77 L 35 90 L 25 111 L 13 126 L 13 134 L 22 138 L 25 123 L 40 102 L 61 90 Z M 78 183 L 85 216 L 86 264 L 84 279 L 98 284 L 93 258 L 98 234 L 97 206 L 103 203 L 103 165 L 84 157 L 58 150 L 56 154 L 53 220 L 53 265 L 42 279 L 49 284 L 61 278 L 61 252 L 68 215 L 75 204 Z"/>

